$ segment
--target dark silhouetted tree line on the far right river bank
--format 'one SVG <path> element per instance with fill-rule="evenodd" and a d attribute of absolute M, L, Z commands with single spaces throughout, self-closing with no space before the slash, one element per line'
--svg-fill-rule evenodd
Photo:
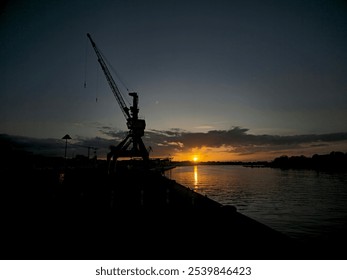
<path fill-rule="evenodd" d="M 270 167 L 282 169 L 315 169 L 327 171 L 347 171 L 347 153 L 331 152 L 325 155 L 291 156 L 275 158 Z"/>

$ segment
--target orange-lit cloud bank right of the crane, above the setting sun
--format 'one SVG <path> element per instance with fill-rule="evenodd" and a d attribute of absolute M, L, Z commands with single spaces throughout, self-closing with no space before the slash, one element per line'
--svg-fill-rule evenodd
<path fill-rule="evenodd" d="M 277 152 L 309 147 L 329 147 L 329 143 L 347 141 L 347 133 L 305 134 L 293 136 L 254 135 L 247 128 L 187 132 L 182 130 L 152 130 L 148 133 L 151 146 L 160 154 L 189 152 L 195 148 L 215 148 L 219 151 L 250 155 L 259 152 Z M 173 145 L 169 145 L 169 143 Z M 179 144 L 178 144 L 179 143 Z M 154 149 L 155 150 L 155 149 Z"/>

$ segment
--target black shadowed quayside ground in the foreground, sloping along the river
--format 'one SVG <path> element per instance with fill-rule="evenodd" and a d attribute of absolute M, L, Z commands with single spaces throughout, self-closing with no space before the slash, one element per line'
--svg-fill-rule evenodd
<path fill-rule="evenodd" d="M 1 259 L 345 259 L 301 244 L 160 174 L 9 170 Z M 5 182 L 5 181 L 3 181 Z"/>

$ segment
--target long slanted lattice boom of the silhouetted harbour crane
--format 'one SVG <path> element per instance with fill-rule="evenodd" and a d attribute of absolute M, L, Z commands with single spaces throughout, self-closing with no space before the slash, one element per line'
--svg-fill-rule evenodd
<path fill-rule="evenodd" d="M 129 113 L 129 108 L 126 106 L 125 104 L 125 101 L 124 101 L 124 98 L 123 96 L 121 95 L 118 87 L 117 87 L 117 84 L 115 83 L 115 81 L 113 80 L 112 76 L 111 76 L 111 73 L 110 71 L 108 70 L 108 67 L 101 55 L 101 52 L 99 51 L 99 48 L 96 46 L 95 42 L 93 41 L 92 37 L 90 36 L 89 33 L 87 33 L 87 36 L 94 48 L 94 51 L 96 53 L 96 56 L 98 57 L 98 61 L 100 63 L 100 66 L 101 66 L 101 69 L 104 71 L 104 74 L 106 76 L 106 80 L 108 82 L 108 84 L 110 85 L 111 87 L 111 90 L 114 94 L 114 96 L 116 97 L 117 101 L 118 101 L 118 104 L 126 118 L 126 120 L 129 120 L 131 118 L 130 116 L 130 113 Z"/>

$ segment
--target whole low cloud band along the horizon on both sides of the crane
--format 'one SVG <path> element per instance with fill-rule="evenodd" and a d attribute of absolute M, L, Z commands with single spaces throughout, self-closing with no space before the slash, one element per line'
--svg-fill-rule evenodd
<path fill-rule="evenodd" d="M 110 127 L 101 127 L 103 137 L 75 137 L 69 141 L 70 155 L 87 154 L 87 148 L 98 151 L 98 157 L 104 158 L 110 145 L 117 145 L 124 139 L 127 132 L 114 131 Z M 1 138 L 11 138 L 17 145 L 31 152 L 63 155 L 65 142 L 62 139 L 36 139 L 20 136 L 0 135 Z M 169 156 L 176 153 L 188 153 L 194 149 L 205 151 L 233 153 L 239 155 L 255 155 L 257 153 L 276 154 L 281 151 L 303 151 L 305 149 L 326 148 L 333 144 L 344 144 L 347 149 L 347 132 L 330 134 L 304 134 L 292 136 L 255 135 L 249 129 L 233 127 L 230 130 L 211 130 L 203 132 L 188 132 L 178 128 L 170 130 L 148 130 L 143 137 L 145 146 L 151 150 L 151 156 Z M 152 152 L 153 151 L 153 152 Z"/>

